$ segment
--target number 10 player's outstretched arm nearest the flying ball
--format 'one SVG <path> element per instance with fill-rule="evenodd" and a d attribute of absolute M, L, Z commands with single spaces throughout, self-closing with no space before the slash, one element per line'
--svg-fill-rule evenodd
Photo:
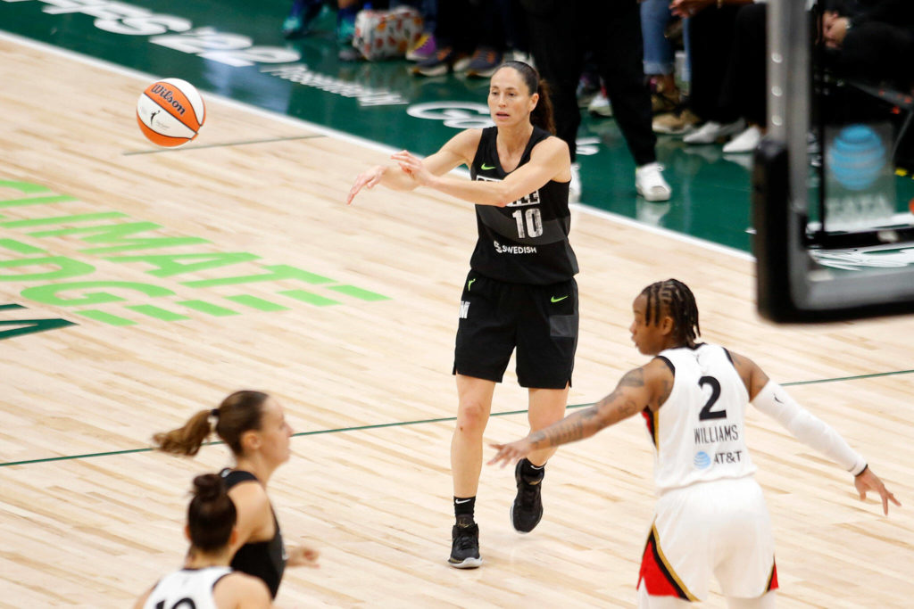
<path fill-rule="evenodd" d="M 398 191 L 408 191 L 417 186 L 427 185 L 426 183 L 436 176 L 448 173 L 462 164 L 472 163 L 480 139 L 482 130 L 469 129 L 461 131 L 444 144 L 441 150 L 424 159 L 405 150 L 395 152 L 390 158 L 398 164 L 375 165 L 358 174 L 349 194 L 346 195 L 345 203 L 350 205 L 363 188 L 371 189 L 377 184 Z M 404 158 L 409 159 L 409 163 L 403 163 Z"/>

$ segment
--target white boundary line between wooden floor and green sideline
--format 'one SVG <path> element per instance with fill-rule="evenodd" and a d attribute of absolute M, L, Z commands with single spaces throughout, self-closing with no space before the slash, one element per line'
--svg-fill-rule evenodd
<path fill-rule="evenodd" d="M 43 51 L 46 53 L 50 53 L 52 55 L 57 55 L 62 58 L 67 58 L 67 59 L 71 59 L 73 61 L 78 61 L 81 64 L 85 64 L 85 65 L 91 66 L 93 68 L 104 69 L 109 72 L 121 74 L 122 76 L 126 76 L 131 79 L 142 80 L 143 82 L 147 82 L 147 83 L 154 82 L 155 80 L 158 80 L 161 78 L 165 78 L 165 77 L 154 76 L 152 74 L 148 74 L 146 72 L 142 72 L 140 70 L 136 70 L 133 68 L 124 68 L 123 66 L 118 66 L 117 64 L 113 64 L 109 61 L 105 61 L 104 59 L 91 58 L 87 55 L 82 55 L 81 53 L 77 53 L 75 51 L 70 51 L 70 50 L 67 50 L 64 48 L 54 47 L 52 45 L 48 45 L 47 43 L 39 42 L 37 40 L 32 40 L 31 38 L 27 38 L 27 37 L 21 37 L 17 34 L 12 34 L 10 32 L 5 32 L 3 30 L 0 30 L 0 40 L 7 40 L 9 42 L 13 42 L 18 45 L 22 45 L 24 47 L 35 48 L 37 50 L 40 50 L 40 51 Z M 345 133 L 343 131 L 336 131 L 335 129 L 332 129 L 330 127 L 324 127 L 323 125 L 314 124 L 313 122 L 304 121 L 303 119 L 297 119 L 297 118 L 294 118 L 291 116 L 287 116 L 285 114 L 280 114 L 279 112 L 275 112 L 273 110 L 263 110 L 262 108 L 258 108 L 257 106 L 252 106 L 252 105 L 244 103 L 242 101 L 230 100 L 226 97 L 217 95 L 215 93 L 207 92 L 207 98 L 218 100 L 220 103 L 226 104 L 227 106 L 230 106 L 232 108 L 250 112 L 251 114 L 256 114 L 258 116 L 268 118 L 273 121 L 283 122 L 285 124 L 292 125 L 293 127 L 297 127 L 299 129 L 304 128 L 309 131 L 316 131 L 318 133 L 321 133 L 322 135 L 325 135 L 327 137 L 332 137 L 335 140 L 339 140 L 341 142 L 354 143 L 358 146 L 362 146 L 369 150 L 375 150 L 377 152 L 385 152 L 385 153 L 392 153 L 392 152 L 397 151 L 396 148 L 393 148 L 392 146 L 388 146 L 387 144 L 372 142 L 371 140 L 367 140 L 365 138 L 358 137 L 357 135 L 351 135 L 351 134 Z M 469 175 L 469 172 L 466 172 L 465 170 L 462 173 Z M 637 220 L 632 220 L 632 218 L 626 217 L 624 215 L 619 215 L 619 214 L 615 214 L 612 212 L 608 212 L 608 211 L 605 211 L 602 209 L 598 209 L 596 207 L 591 207 L 590 205 L 577 204 L 577 205 L 569 205 L 569 206 L 574 211 L 579 211 L 579 212 L 583 212 L 585 214 L 590 214 L 590 215 L 596 215 L 598 217 L 610 220 L 611 222 L 614 222 L 616 224 L 640 228 L 641 230 L 648 232 L 648 233 L 653 233 L 654 235 L 665 236 L 667 238 L 674 239 L 676 241 L 681 241 L 683 243 L 687 243 L 687 244 L 690 244 L 693 246 L 702 247 L 704 249 L 709 249 L 711 251 L 719 252 L 721 254 L 727 254 L 728 256 L 739 257 L 744 260 L 755 260 L 755 257 L 753 257 L 751 254 L 744 252 L 742 250 L 739 250 L 735 247 L 722 246 L 720 244 L 714 243 L 713 241 L 707 241 L 706 239 L 701 239 L 696 236 L 689 236 L 689 235 L 684 235 L 682 233 L 677 233 L 674 230 L 670 230 L 668 228 L 662 228 L 660 226 L 651 226 L 651 225 L 643 224 L 642 222 L 638 222 Z"/>

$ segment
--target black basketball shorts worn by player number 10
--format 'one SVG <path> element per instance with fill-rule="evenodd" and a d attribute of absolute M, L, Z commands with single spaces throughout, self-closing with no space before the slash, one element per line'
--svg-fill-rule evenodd
<path fill-rule="evenodd" d="M 454 374 L 502 382 L 517 349 L 522 387 L 564 389 L 578 348 L 578 283 L 505 283 L 471 270 L 463 284 Z"/>

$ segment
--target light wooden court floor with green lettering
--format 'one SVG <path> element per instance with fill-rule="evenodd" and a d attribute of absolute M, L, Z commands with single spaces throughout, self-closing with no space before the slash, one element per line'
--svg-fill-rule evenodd
<path fill-rule="evenodd" d="M 513 473 L 486 467 L 484 567 L 445 564 L 469 205 L 378 190 L 346 207 L 356 173 L 386 152 L 223 100 L 207 98 L 198 142 L 154 150 L 133 118 L 147 79 L 8 37 L 0 81 L 0 305 L 20 306 L 0 320 L 76 324 L 0 342 L 0 606 L 128 606 L 177 568 L 189 481 L 228 452 L 180 459 L 149 438 L 240 388 L 278 396 L 300 434 L 271 498 L 287 541 L 322 552 L 319 570 L 287 572 L 277 606 L 633 605 L 654 504 L 640 417 L 559 451 L 530 535 L 508 522 Z M 122 223 L 152 225 L 80 230 Z M 883 517 L 753 413 L 781 606 L 911 606 L 914 321 L 776 327 L 754 311 L 747 257 L 583 212 L 572 237 L 569 404 L 643 362 L 627 331 L 637 292 L 684 280 L 705 339 L 794 383 L 904 504 Z M 522 436 L 525 408 L 508 373 L 486 437 Z"/>

